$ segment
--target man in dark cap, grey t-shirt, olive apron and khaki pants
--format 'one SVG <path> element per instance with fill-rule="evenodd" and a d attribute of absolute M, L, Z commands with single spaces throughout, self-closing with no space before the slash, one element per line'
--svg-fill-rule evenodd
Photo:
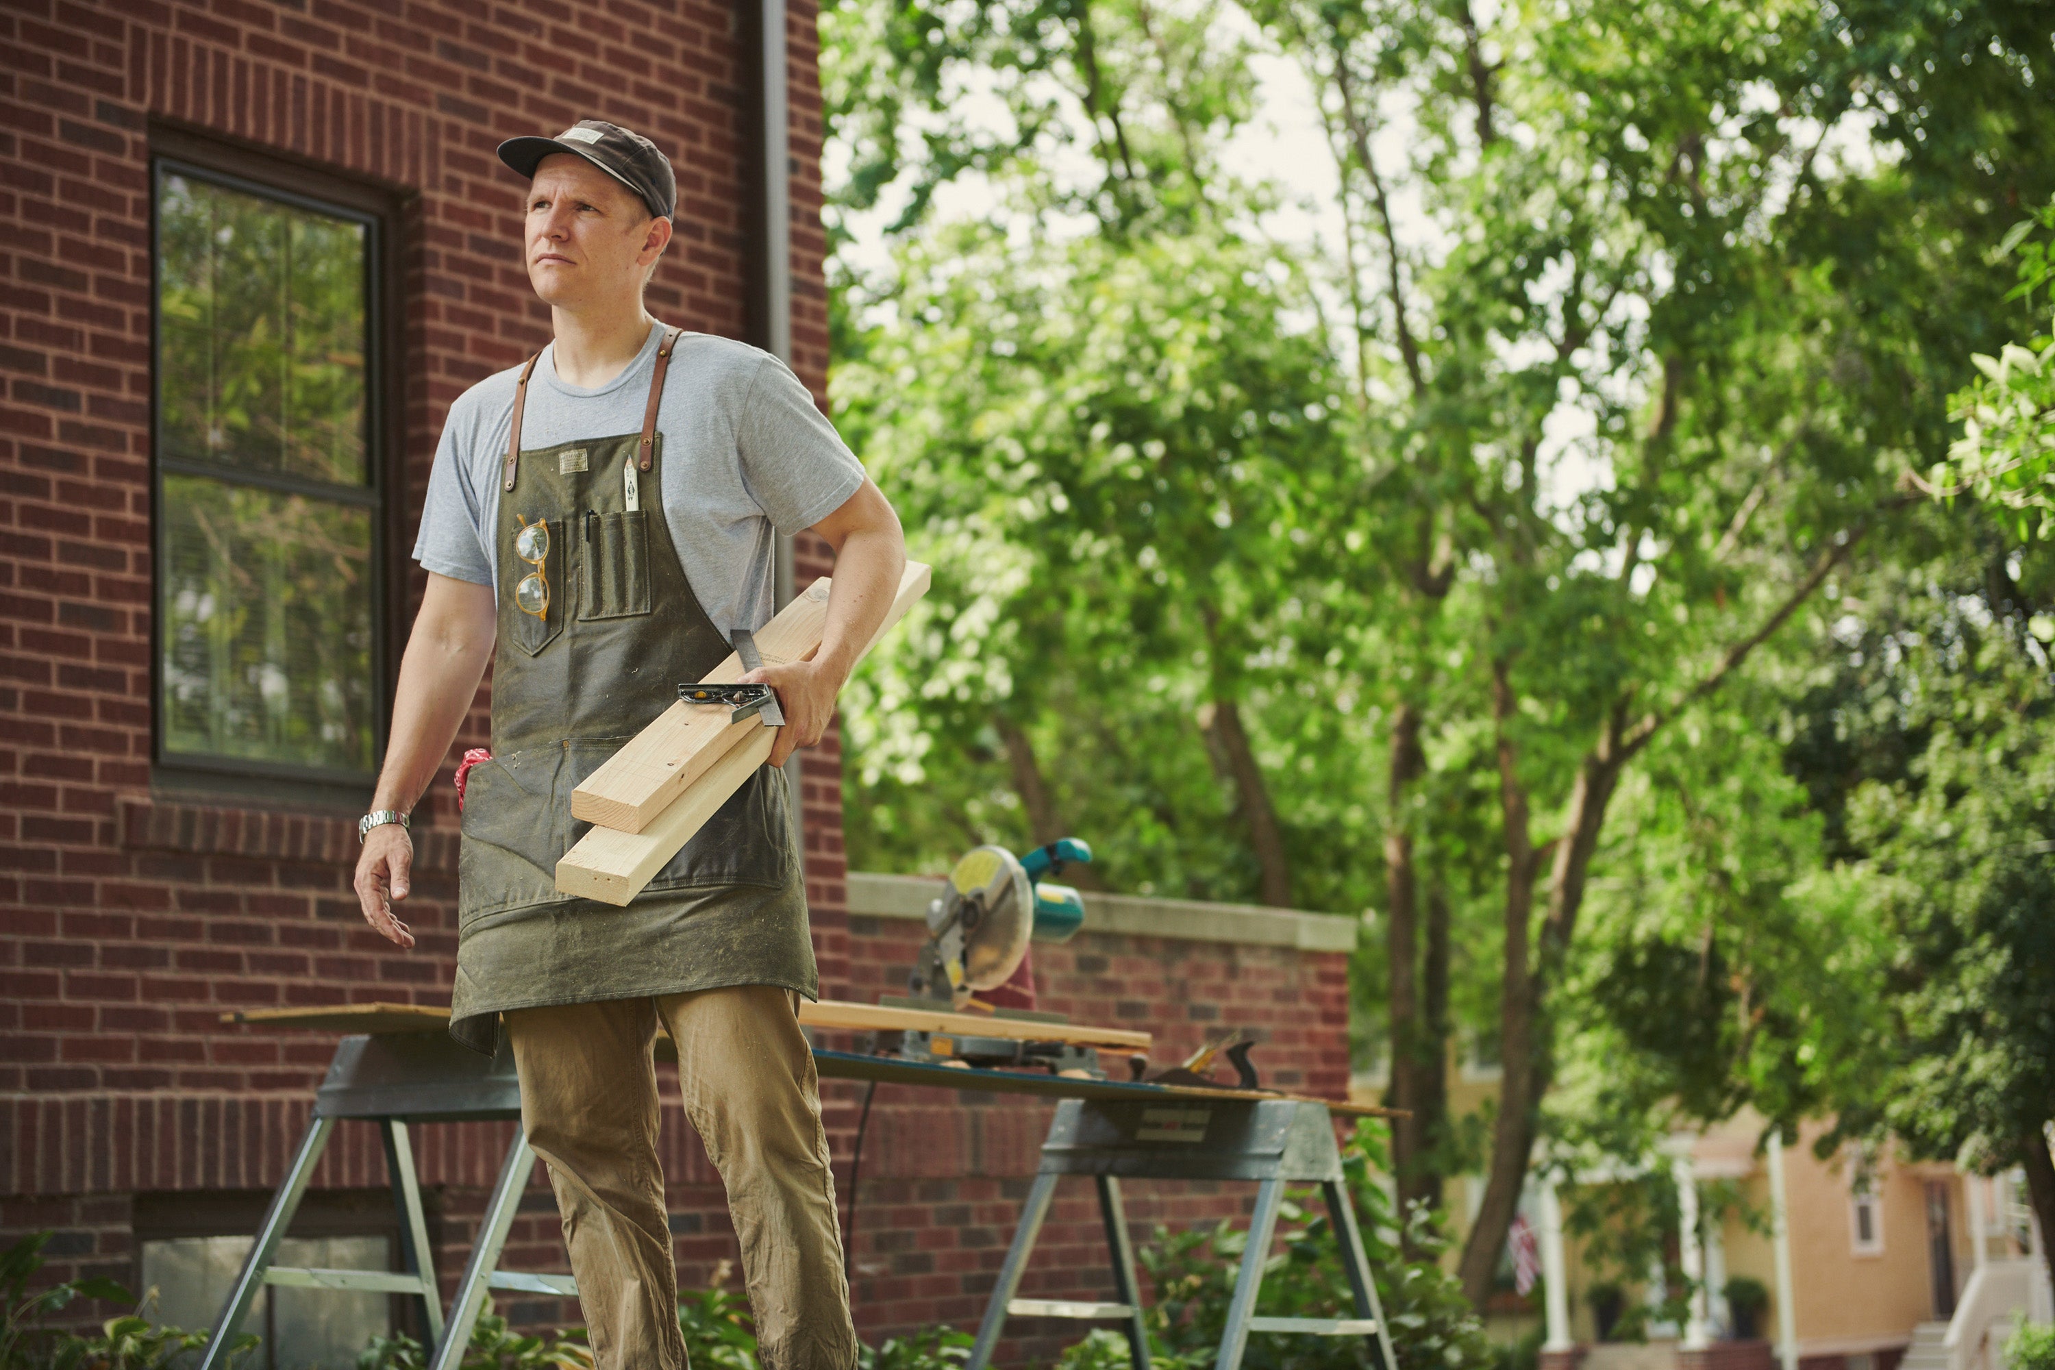
<path fill-rule="evenodd" d="M 487 1052 L 506 1031 L 598 1364 L 684 1366 L 656 1152 L 662 1021 L 727 1187 L 762 1362 L 849 1370 L 834 1181 L 797 1023 L 818 978 L 779 764 L 826 729 L 892 604 L 904 538 L 781 361 L 643 308 L 676 205 L 653 144 L 586 119 L 499 158 L 530 179 L 528 279 L 555 341 L 450 407 L 358 898 L 378 933 L 413 945 L 393 912 L 413 859 L 405 815 L 491 661 L 491 760 L 460 801 L 450 1031 Z M 785 711 L 771 764 L 627 908 L 559 896 L 557 859 L 586 828 L 571 791 L 719 663 L 734 629 L 762 626 L 775 532 L 799 528 L 836 550 L 834 592 L 814 661 L 748 676 Z"/>

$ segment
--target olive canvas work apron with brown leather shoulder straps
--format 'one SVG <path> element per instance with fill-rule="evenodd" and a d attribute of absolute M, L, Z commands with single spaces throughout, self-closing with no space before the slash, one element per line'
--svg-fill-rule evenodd
<path fill-rule="evenodd" d="M 571 791 L 701 680 L 727 643 L 670 538 L 656 429 L 520 450 L 528 359 L 499 479 L 493 756 L 471 770 L 450 1035 L 491 1052 L 499 1013 L 727 984 L 818 996 L 785 774 L 758 766 L 627 908 L 557 893 L 592 824 Z M 526 534 L 526 536 L 524 536 Z M 532 612 L 538 610 L 538 612 Z"/>

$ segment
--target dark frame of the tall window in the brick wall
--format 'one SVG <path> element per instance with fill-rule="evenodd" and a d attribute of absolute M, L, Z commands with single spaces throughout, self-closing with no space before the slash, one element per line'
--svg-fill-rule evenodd
<path fill-rule="evenodd" d="M 366 226 L 364 347 L 366 347 L 366 485 L 353 497 L 335 485 L 288 474 L 218 470 L 210 462 L 162 456 L 158 364 L 162 357 L 162 251 L 158 205 L 162 179 L 185 175 L 210 185 L 257 195 L 314 214 Z M 399 244 L 403 205 L 395 191 L 292 162 L 261 148 L 224 142 L 203 131 L 152 123 L 150 127 L 150 781 L 166 797 L 214 801 L 304 803 L 323 809 L 358 809 L 370 803 L 376 768 L 384 758 L 399 665 L 399 631 L 407 577 L 395 559 L 403 546 L 399 505 L 405 491 L 405 415 L 401 370 Z M 164 477 L 199 474 L 238 485 L 300 493 L 370 509 L 370 612 L 372 612 L 372 768 L 329 770 L 292 762 L 232 756 L 195 756 L 164 748 Z M 347 487 L 345 487 L 347 489 Z"/>

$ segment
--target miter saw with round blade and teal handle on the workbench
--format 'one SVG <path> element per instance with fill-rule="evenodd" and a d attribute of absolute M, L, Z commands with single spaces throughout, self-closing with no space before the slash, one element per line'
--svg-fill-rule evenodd
<path fill-rule="evenodd" d="M 1007 1019 L 1067 1021 L 1060 1013 L 995 1006 L 978 998 L 1019 969 L 1028 943 L 1067 943 L 1085 924 L 1085 900 L 1058 875 L 1064 865 L 1091 861 L 1079 838 L 1060 838 L 1015 857 L 1003 846 L 980 846 L 956 863 L 939 900 L 927 906 L 927 945 L 914 957 L 906 998 L 886 998 L 898 1009 L 986 1011 Z M 964 1033 L 906 1033 L 900 1052 L 910 1060 L 964 1062 L 970 1066 L 1044 1066 L 1056 1074 L 1101 1076 L 1097 1054 L 1062 1041 L 1013 1041 Z"/>

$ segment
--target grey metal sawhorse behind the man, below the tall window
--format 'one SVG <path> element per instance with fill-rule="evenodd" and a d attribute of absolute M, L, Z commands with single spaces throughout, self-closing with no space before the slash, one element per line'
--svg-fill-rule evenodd
<path fill-rule="evenodd" d="M 273 1265 L 277 1243 L 292 1226 L 292 1216 L 306 1197 L 321 1154 L 329 1148 L 335 1124 L 358 1117 L 378 1124 L 384 1136 L 386 1175 L 393 1181 L 393 1202 L 399 1208 L 401 1271 L 382 1269 L 290 1269 Z M 479 1222 L 479 1239 L 456 1284 L 456 1298 L 444 1317 L 436 1288 L 436 1261 L 427 1249 L 427 1214 L 421 1212 L 421 1183 L 413 1169 L 413 1142 L 407 1124 L 458 1121 L 520 1121 L 520 1080 L 514 1074 L 514 1054 L 506 1048 L 485 1058 L 460 1048 L 446 1029 L 401 1031 L 343 1037 L 329 1064 L 329 1076 L 314 1095 L 314 1115 L 306 1124 L 286 1179 L 271 1195 L 263 1226 L 249 1259 L 228 1294 L 214 1335 L 208 1339 L 199 1370 L 220 1370 L 228 1364 L 228 1345 L 249 1317 L 257 1294 L 269 1286 L 353 1290 L 372 1294 L 411 1294 L 421 1300 L 427 1323 L 429 1370 L 458 1370 L 471 1329 L 485 1308 L 489 1290 L 524 1294 L 575 1296 L 577 1282 L 569 1276 L 526 1276 L 497 1269 L 508 1228 L 520 1208 L 534 1152 L 518 1130 L 508 1148 L 499 1179 Z"/>

